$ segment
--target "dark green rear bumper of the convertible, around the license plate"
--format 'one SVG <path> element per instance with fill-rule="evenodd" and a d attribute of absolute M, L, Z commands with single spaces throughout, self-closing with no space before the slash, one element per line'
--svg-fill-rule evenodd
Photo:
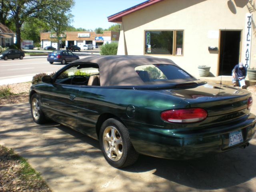
<path fill-rule="evenodd" d="M 252 139 L 256 128 L 256 116 L 248 114 L 248 118 L 232 126 L 218 126 L 203 130 L 178 132 L 125 122 L 135 150 L 141 154 L 168 159 L 190 159 L 207 154 L 221 153 L 246 144 Z M 229 147 L 229 134 L 242 130 L 243 142 Z"/>

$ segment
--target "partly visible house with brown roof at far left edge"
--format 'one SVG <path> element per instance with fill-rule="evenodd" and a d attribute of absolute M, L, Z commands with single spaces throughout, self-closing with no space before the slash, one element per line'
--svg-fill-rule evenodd
<path fill-rule="evenodd" d="M 13 40 L 14 32 L 0 23 L 0 46 L 9 47 L 14 44 Z"/>

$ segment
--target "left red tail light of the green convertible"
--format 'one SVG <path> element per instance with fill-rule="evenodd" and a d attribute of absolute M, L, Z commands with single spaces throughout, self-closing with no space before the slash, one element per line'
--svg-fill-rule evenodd
<path fill-rule="evenodd" d="M 206 110 L 202 108 L 173 109 L 161 113 L 162 120 L 172 123 L 200 122 L 207 117 Z"/>

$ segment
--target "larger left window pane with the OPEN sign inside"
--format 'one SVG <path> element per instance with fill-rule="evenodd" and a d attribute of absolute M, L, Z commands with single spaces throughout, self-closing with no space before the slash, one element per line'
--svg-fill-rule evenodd
<path fill-rule="evenodd" d="M 146 31 L 145 54 L 173 54 L 173 31 Z"/>

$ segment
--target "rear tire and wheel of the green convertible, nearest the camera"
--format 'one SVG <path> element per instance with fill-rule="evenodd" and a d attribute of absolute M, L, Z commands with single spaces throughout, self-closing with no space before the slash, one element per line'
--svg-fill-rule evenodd
<path fill-rule="evenodd" d="M 102 124 L 99 140 L 104 158 L 113 167 L 123 168 L 134 164 L 138 159 L 128 129 L 115 118 L 110 118 Z"/>

